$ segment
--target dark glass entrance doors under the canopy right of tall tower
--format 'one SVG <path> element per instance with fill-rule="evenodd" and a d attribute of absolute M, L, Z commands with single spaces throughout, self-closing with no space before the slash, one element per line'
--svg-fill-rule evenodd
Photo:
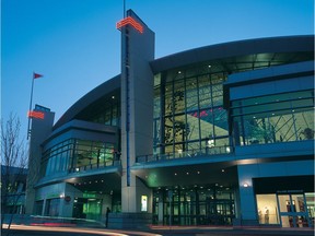
<path fill-rule="evenodd" d="M 231 225 L 234 192 L 222 186 L 160 188 L 153 192 L 153 224 Z"/>

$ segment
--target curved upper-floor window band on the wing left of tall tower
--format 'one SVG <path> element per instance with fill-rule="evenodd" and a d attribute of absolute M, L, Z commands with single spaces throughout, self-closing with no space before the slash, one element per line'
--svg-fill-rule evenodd
<path fill-rule="evenodd" d="M 113 143 L 69 139 L 45 151 L 42 177 L 65 172 L 80 172 L 114 165 Z"/>

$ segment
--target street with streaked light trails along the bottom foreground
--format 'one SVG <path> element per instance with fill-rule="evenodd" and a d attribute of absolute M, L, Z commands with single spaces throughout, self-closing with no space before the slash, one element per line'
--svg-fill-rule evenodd
<path fill-rule="evenodd" d="M 3 231 L 5 235 L 5 231 Z M 7 232 L 8 233 L 8 232 Z M 88 236 L 88 235 L 112 235 L 112 236 L 313 236 L 314 228 L 268 228 L 268 227 L 208 227 L 208 226 L 151 226 L 143 229 L 112 229 L 78 226 L 30 226 L 11 225 L 10 233 L 15 236 Z"/>

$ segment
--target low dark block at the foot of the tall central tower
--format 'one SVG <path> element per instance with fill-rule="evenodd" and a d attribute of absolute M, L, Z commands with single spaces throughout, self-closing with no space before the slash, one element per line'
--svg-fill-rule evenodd
<path fill-rule="evenodd" d="M 151 213 L 110 213 L 108 228 L 149 228 L 152 224 Z"/>

